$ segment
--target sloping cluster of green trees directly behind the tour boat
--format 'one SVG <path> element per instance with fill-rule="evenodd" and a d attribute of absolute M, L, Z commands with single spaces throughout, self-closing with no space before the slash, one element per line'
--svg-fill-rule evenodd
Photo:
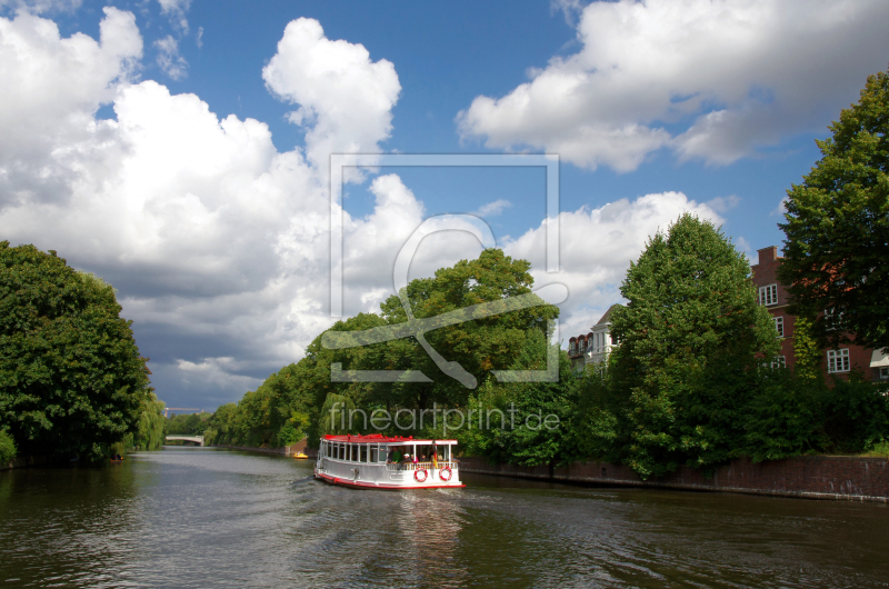
<path fill-rule="evenodd" d="M 433 278 L 412 280 L 406 290 L 416 318 L 432 318 L 482 302 L 505 301 L 530 292 L 533 279 L 525 260 L 513 260 L 501 250 L 489 249 L 476 260 L 462 260 L 440 269 Z M 503 312 L 472 319 L 426 333 L 428 342 L 447 360 L 459 362 L 477 382 L 485 382 L 491 370 L 507 369 L 533 333 L 547 333 L 547 321 L 558 316 L 558 308 L 542 305 L 531 309 Z M 359 332 L 371 328 L 394 327 L 408 321 L 398 297 L 380 306 L 380 313 L 359 313 L 337 321 L 330 332 Z M 472 389 L 444 376 L 414 338 L 332 349 L 322 343 L 323 335 L 312 341 L 306 357 L 287 366 L 256 390 L 220 413 L 217 410 L 208 425 L 214 443 L 237 446 L 282 446 L 293 436 L 292 429 L 309 437 L 316 445 L 319 436 L 332 432 L 358 432 L 364 428 L 363 417 L 356 415 L 349 427 L 349 410 L 361 408 L 367 415 L 384 409 L 431 409 L 433 405 L 466 407 Z M 331 382 L 330 366 L 342 370 L 421 370 L 433 382 Z M 346 410 L 346 423 L 336 413 L 333 403 Z M 304 416 L 308 423 L 293 416 Z M 369 423 L 368 423 L 369 425 Z M 344 427 L 343 427 L 344 426 Z M 374 430 L 376 431 L 376 430 Z M 407 431 L 391 427 L 391 433 Z M 418 429 L 414 433 L 419 432 Z"/>

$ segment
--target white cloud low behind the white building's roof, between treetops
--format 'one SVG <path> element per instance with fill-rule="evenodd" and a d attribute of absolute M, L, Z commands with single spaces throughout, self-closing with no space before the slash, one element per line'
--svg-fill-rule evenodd
<path fill-rule="evenodd" d="M 569 298 L 560 305 L 561 339 L 586 333 L 613 303 L 631 260 L 636 260 L 649 237 L 666 231 L 683 212 L 708 219 L 717 226 L 723 219 L 707 203 L 682 192 L 646 194 L 635 201 L 617 200 L 598 209 L 581 208 L 559 214 L 560 271 L 546 272 L 546 227 L 529 230 L 508 241 L 510 256 L 531 261 L 535 286 L 559 282 Z"/>

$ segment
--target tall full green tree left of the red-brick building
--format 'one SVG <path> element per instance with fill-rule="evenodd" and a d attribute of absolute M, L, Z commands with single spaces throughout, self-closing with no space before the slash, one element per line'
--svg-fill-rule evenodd
<path fill-rule="evenodd" d="M 709 221 L 683 214 L 630 264 L 615 310 L 623 460 L 642 478 L 723 462 L 745 443 L 757 368 L 778 350 L 750 266 Z"/>

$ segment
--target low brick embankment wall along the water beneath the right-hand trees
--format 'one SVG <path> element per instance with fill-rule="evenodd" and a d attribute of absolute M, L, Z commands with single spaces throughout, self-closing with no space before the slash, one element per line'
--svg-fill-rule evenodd
<path fill-rule="evenodd" d="M 712 478 L 706 478 L 700 470 L 680 467 L 667 477 L 646 481 L 629 467 L 598 461 L 550 469 L 548 466 L 490 465 L 483 458 L 470 457 L 460 459 L 460 470 L 585 485 L 889 503 L 889 460 L 886 458 L 806 456 L 759 463 L 740 459 L 717 469 Z"/>

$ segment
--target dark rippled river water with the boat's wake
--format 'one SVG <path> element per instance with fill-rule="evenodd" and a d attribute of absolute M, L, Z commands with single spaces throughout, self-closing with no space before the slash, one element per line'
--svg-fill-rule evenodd
<path fill-rule="evenodd" d="M 889 587 L 882 505 L 310 476 L 210 448 L 0 472 L 0 587 Z"/>

